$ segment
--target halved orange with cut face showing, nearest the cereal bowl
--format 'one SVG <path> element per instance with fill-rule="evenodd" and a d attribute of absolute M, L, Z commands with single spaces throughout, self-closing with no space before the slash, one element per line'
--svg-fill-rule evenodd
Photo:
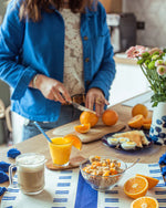
<path fill-rule="evenodd" d="M 129 178 L 124 184 L 124 193 L 131 198 L 138 198 L 146 195 L 148 189 L 148 181 L 146 178 L 141 176 L 135 176 Z"/>

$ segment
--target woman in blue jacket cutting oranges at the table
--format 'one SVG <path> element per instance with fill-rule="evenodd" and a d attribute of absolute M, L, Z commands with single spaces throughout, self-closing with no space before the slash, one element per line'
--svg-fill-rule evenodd
<path fill-rule="evenodd" d="M 71 100 L 101 116 L 115 76 L 103 6 L 96 0 L 11 0 L 0 28 L 0 77 L 23 139 L 79 118 Z"/>

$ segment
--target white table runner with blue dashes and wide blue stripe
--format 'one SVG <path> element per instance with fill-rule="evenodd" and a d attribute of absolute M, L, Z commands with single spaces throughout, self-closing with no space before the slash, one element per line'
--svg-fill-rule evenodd
<path fill-rule="evenodd" d="M 127 164 L 131 165 L 131 164 Z M 100 193 L 85 183 L 79 169 L 51 171 L 45 169 L 45 188 L 37 196 L 23 195 L 19 188 L 8 188 L 2 208 L 128 208 L 133 199 L 123 191 L 124 183 L 135 174 L 159 179 L 146 196 L 155 197 L 159 208 L 166 208 L 166 186 L 158 164 L 136 164 L 128 169 L 118 186 Z M 17 176 L 15 176 L 17 177 Z"/>

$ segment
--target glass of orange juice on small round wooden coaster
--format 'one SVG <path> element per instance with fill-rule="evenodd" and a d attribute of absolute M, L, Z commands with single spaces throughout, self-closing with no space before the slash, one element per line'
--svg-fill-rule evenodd
<path fill-rule="evenodd" d="M 73 141 L 65 139 L 64 137 L 55 137 L 49 143 L 50 154 L 54 165 L 68 166 L 72 150 Z"/>

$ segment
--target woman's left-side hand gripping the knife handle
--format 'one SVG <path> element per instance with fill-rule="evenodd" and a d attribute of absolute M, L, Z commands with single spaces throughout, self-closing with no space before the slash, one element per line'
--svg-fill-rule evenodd
<path fill-rule="evenodd" d="M 64 85 L 54 79 L 39 74 L 35 81 L 35 89 L 40 90 L 45 98 L 59 101 L 62 104 L 71 102 L 71 96 Z"/>

